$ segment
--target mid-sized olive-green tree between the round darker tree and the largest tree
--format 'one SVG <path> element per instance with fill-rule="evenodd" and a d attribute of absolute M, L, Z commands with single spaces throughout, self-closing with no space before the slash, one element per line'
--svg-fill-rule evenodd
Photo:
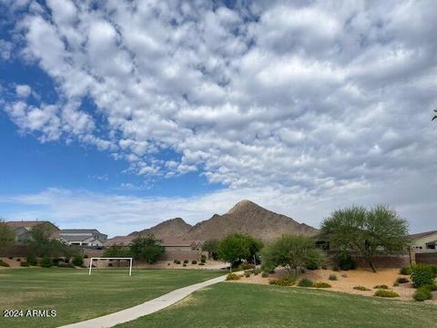
<path fill-rule="evenodd" d="M 322 253 L 310 237 L 285 234 L 261 251 L 263 269 L 273 270 L 277 266 L 286 268 L 296 278 L 299 268 L 317 265 L 323 261 Z"/>

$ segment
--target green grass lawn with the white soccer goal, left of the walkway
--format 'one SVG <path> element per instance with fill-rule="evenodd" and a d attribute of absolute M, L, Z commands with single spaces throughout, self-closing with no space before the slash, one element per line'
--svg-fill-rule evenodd
<path fill-rule="evenodd" d="M 16 269 L 0 271 L 0 327 L 56 327 L 125 309 L 223 275 L 203 270 Z M 5 309 L 55 309 L 56 318 L 4 318 Z"/>

